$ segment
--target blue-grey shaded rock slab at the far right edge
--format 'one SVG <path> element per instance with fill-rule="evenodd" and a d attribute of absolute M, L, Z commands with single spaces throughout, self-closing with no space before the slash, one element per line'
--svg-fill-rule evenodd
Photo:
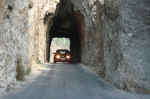
<path fill-rule="evenodd" d="M 138 4 L 138 5 L 137 5 Z M 120 48 L 123 61 L 120 77 L 127 79 L 127 88 L 137 92 L 150 90 L 150 1 L 121 1 Z M 133 88 L 133 89 L 132 89 Z"/>

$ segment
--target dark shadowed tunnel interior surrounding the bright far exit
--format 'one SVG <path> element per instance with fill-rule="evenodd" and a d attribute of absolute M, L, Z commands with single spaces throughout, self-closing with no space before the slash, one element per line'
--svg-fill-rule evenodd
<path fill-rule="evenodd" d="M 70 39 L 70 51 L 72 53 L 72 62 L 81 62 L 81 40 L 82 36 L 82 24 L 83 16 L 80 12 L 73 11 L 73 6 L 67 9 L 64 2 L 60 2 L 57 6 L 55 16 L 52 18 L 52 24 L 48 31 L 48 42 L 47 42 L 47 62 L 50 62 L 51 44 L 53 38 L 69 38 Z M 70 8 L 70 10 L 68 10 Z M 81 18 L 82 17 L 82 18 Z M 82 21 L 81 21 L 82 19 Z"/>

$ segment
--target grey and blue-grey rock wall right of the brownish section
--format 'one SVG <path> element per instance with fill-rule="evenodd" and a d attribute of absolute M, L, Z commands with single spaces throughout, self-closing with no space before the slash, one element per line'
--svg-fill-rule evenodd
<path fill-rule="evenodd" d="M 148 0 L 105 0 L 105 79 L 120 89 L 150 93 L 149 5 Z"/>

